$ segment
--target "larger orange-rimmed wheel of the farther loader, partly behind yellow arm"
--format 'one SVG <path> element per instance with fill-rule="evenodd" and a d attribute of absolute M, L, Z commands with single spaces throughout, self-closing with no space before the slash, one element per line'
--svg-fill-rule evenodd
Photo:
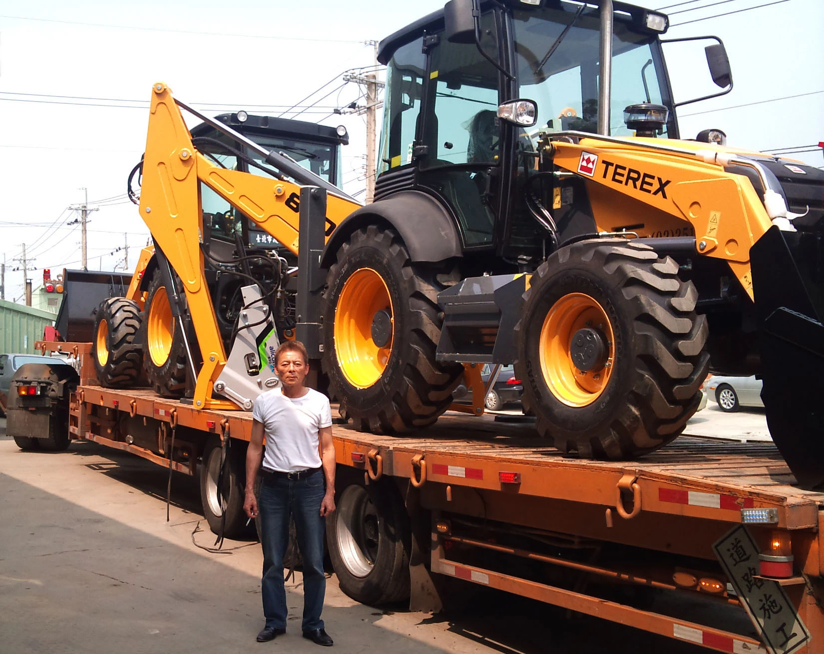
<path fill-rule="evenodd" d="M 178 294 L 187 310 L 183 285 L 175 276 Z M 186 388 L 186 347 L 180 324 L 171 313 L 166 285 L 159 269 L 149 282 L 141 329 L 143 369 L 149 385 L 163 398 L 180 398 Z"/>

